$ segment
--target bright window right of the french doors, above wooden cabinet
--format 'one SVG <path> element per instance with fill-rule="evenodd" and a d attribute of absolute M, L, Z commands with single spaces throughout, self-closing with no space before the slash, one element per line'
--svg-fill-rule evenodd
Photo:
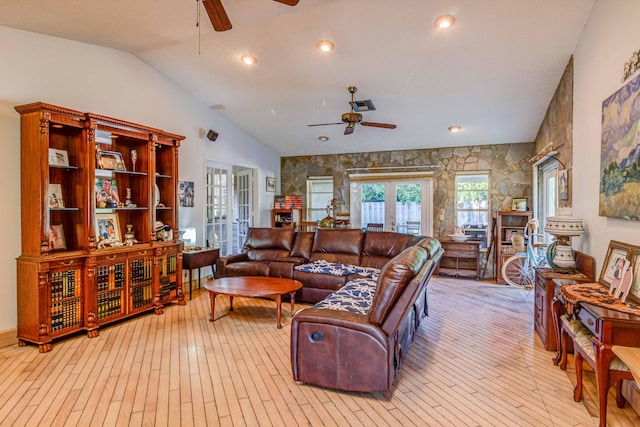
<path fill-rule="evenodd" d="M 456 224 L 471 239 L 487 247 L 489 226 L 489 174 L 459 174 L 456 176 Z"/>

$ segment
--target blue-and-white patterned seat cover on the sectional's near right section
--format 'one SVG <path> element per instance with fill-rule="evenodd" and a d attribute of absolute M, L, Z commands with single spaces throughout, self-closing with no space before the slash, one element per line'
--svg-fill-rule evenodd
<path fill-rule="evenodd" d="M 327 310 L 367 314 L 376 294 L 376 281 L 355 279 L 313 306 Z"/>

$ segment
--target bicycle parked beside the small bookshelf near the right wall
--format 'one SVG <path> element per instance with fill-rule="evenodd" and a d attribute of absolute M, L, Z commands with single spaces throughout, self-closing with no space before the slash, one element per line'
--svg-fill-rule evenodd
<path fill-rule="evenodd" d="M 511 237 L 511 243 L 516 249 L 516 253 L 502 264 L 502 277 L 507 284 L 513 287 L 532 289 L 535 281 L 534 268 L 548 265 L 544 250 L 547 244 L 534 242 L 536 237 L 544 237 L 542 234 L 535 233 L 538 227 L 538 220 L 531 219 L 524 227 L 523 236 Z"/>

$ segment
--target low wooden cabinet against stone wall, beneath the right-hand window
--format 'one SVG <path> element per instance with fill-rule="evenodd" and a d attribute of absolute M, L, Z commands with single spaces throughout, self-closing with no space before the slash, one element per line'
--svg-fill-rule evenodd
<path fill-rule="evenodd" d="M 440 241 L 444 255 L 438 265 L 439 276 L 472 277 L 480 280 L 480 241 Z"/>

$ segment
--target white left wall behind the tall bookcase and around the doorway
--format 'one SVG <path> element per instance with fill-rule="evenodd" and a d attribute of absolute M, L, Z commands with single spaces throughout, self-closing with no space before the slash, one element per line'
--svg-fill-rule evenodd
<path fill-rule="evenodd" d="M 203 221 L 203 159 L 258 169 L 258 179 L 279 177 L 280 157 L 135 56 L 0 26 L 0 178 L 4 183 L 0 245 L 0 331 L 15 328 L 16 266 L 20 255 L 19 116 L 15 105 L 43 101 L 157 127 L 186 138 L 179 178 L 194 181 L 194 208 L 180 209 L 180 228 Z M 216 142 L 200 129 L 220 133 Z M 269 225 L 273 193 L 260 190 L 256 225 Z M 24 224 L 29 226 L 29 224 Z M 198 235 L 198 242 L 204 240 Z"/>

